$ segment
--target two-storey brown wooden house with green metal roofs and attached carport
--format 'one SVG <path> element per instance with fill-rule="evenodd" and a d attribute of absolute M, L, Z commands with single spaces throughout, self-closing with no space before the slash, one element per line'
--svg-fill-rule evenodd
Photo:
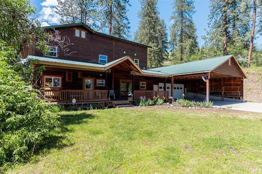
<path fill-rule="evenodd" d="M 22 56 L 45 67 L 37 88 L 58 102 L 98 102 L 160 97 L 243 99 L 242 71 L 233 55 L 147 69 L 147 45 L 92 30 L 82 23 L 46 26 L 69 38 L 70 54 L 25 49 Z M 210 95 L 210 97 L 209 97 Z"/>

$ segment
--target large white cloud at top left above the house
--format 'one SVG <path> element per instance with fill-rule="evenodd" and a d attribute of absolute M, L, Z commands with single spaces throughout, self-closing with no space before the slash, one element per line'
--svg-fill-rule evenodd
<path fill-rule="evenodd" d="M 39 13 L 39 21 L 41 25 L 56 25 L 59 24 L 60 16 L 56 13 L 57 0 L 44 0 L 42 9 Z"/>

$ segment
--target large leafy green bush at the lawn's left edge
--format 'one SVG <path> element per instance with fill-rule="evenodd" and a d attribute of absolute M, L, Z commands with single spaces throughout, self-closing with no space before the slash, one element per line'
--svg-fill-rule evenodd
<path fill-rule="evenodd" d="M 12 51 L 0 50 L 0 165 L 22 162 L 57 124 L 54 106 L 45 104 L 6 63 Z"/>

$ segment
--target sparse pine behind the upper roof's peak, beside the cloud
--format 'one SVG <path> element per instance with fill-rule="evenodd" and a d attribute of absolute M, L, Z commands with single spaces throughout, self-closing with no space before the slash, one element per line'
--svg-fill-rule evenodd
<path fill-rule="evenodd" d="M 97 4 L 94 0 L 58 0 L 56 13 L 62 24 L 85 23 L 97 29 Z"/>

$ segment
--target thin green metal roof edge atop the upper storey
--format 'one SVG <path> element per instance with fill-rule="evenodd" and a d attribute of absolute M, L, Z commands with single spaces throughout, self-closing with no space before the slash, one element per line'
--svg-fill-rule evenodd
<path fill-rule="evenodd" d="M 88 30 L 90 30 L 91 32 L 96 33 L 96 34 L 104 35 L 104 36 L 107 36 L 107 37 L 110 37 L 110 38 L 122 40 L 122 41 L 129 42 L 129 43 L 133 43 L 133 44 L 136 44 L 136 45 L 140 45 L 140 46 L 152 48 L 151 46 L 146 45 L 146 44 L 141 44 L 141 43 L 138 43 L 138 42 L 130 41 L 130 40 L 127 40 L 127 39 L 123 39 L 123 38 L 120 38 L 120 37 L 116 37 L 116 36 L 112 36 L 112 35 L 109 35 L 109 34 L 105 34 L 105 33 L 101 33 L 101 32 L 95 31 L 95 30 L 93 30 L 92 28 L 90 28 L 88 25 L 86 25 L 85 23 L 72 23 L 72 24 L 61 24 L 61 25 L 41 26 L 41 28 L 56 28 L 56 27 L 66 27 L 66 26 L 75 26 L 75 25 L 83 25 L 83 26 L 85 26 Z"/>

